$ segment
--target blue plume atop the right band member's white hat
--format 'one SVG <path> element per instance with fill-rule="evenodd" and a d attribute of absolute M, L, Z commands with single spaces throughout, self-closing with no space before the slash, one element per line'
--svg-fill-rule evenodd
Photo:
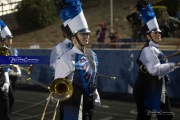
<path fill-rule="evenodd" d="M 146 7 L 140 8 L 139 12 L 141 13 L 142 19 L 145 23 L 156 17 L 149 3 L 146 5 Z"/>

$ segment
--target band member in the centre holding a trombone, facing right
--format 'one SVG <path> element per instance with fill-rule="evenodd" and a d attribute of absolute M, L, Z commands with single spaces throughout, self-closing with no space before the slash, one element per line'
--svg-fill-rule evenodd
<path fill-rule="evenodd" d="M 98 61 L 96 54 L 85 48 L 90 31 L 79 0 L 64 1 L 60 13 L 65 21 L 62 30 L 73 47 L 62 54 L 55 63 L 55 79 L 67 78 L 72 82 L 73 94 L 61 102 L 62 120 L 91 120 L 94 108 Z M 100 103 L 100 98 L 98 103 Z"/>

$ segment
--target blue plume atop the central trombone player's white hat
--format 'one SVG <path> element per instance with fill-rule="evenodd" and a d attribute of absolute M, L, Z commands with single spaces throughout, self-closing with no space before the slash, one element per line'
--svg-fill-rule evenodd
<path fill-rule="evenodd" d="M 73 19 L 82 11 L 81 2 L 79 0 L 66 0 L 65 5 L 65 9 L 60 12 L 60 17 L 63 21 Z"/>

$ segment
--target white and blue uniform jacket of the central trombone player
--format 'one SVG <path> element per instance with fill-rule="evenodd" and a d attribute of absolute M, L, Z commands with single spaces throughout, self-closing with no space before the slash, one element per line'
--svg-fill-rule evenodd
<path fill-rule="evenodd" d="M 96 87 L 97 56 L 85 49 L 84 53 L 75 46 L 63 54 L 55 65 L 55 79 L 68 78 L 74 86 L 86 91 L 88 95 L 93 94 Z"/>

